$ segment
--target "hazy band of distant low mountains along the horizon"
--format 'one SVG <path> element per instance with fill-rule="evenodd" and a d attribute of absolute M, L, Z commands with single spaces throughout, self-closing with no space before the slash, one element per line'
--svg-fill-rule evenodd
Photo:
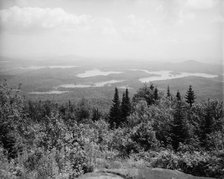
<path fill-rule="evenodd" d="M 77 65 L 85 68 L 103 68 L 108 70 L 120 69 L 147 69 L 147 70 L 170 70 L 174 72 L 223 74 L 223 66 L 218 64 L 202 63 L 196 60 L 184 62 L 161 62 L 160 60 L 134 60 L 134 59 L 97 59 L 76 55 L 49 56 L 35 58 L 9 58 L 0 57 L 0 61 L 13 62 L 13 65 Z"/>

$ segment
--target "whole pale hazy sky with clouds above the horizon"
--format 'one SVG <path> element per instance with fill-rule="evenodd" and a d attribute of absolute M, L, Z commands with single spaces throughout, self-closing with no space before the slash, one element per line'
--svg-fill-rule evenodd
<path fill-rule="evenodd" d="M 1 0 L 1 56 L 221 62 L 223 0 Z"/>

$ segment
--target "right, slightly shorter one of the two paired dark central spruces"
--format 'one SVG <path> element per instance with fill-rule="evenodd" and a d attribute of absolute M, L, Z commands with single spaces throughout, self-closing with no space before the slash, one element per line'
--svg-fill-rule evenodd
<path fill-rule="evenodd" d="M 121 102 L 121 117 L 123 123 L 126 122 L 127 117 L 130 115 L 130 112 L 131 112 L 131 102 L 129 98 L 128 89 L 126 89 L 125 93 L 123 93 Z"/>

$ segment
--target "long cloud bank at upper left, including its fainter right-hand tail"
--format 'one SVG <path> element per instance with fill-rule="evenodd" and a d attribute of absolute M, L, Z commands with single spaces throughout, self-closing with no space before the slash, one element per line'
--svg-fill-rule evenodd
<path fill-rule="evenodd" d="M 37 33 L 52 29 L 115 36 L 114 22 L 106 17 L 75 15 L 62 8 L 10 7 L 0 10 L 0 26 L 10 33 Z M 64 31 L 63 31 L 64 32 Z"/>

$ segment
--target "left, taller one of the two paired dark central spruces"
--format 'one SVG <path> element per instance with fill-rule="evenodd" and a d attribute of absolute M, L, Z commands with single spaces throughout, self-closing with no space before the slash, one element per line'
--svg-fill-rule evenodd
<path fill-rule="evenodd" d="M 121 123 L 120 100 L 117 88 L 115 88 L 113 104 L 110 108 L 109 123 L 111 128 L 119 127 Z"/>

